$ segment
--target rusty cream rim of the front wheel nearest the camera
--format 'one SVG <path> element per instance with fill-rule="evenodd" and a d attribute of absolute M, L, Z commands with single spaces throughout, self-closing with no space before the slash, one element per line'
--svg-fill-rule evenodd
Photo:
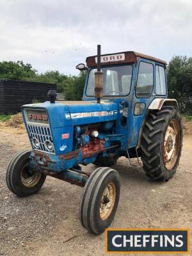
<path fill-rule="evenodd" d="M 113 182 L 110 182 L 104 192 L 102 193 L 102 198 L 100 200 L 100 218 L 101 220 L 106 220 L 111 214 L 113 207 L 115 205 L 116 198 L 116 187 Z"/>

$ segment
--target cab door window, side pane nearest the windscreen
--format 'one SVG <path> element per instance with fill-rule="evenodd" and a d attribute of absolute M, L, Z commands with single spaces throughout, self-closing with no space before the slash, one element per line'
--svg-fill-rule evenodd
<path fill-rule="evenodd" d="M 136 95 L 138 97 L 150 97 L 154 88 L 154 66 L 141 61 L 138 72 Z"/>

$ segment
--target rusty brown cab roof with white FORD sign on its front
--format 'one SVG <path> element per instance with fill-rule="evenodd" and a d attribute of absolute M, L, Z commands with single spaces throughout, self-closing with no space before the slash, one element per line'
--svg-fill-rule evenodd
<path fill-rule="evenodd" d="M 152 56 L 148 56 L 146 54 L 140 53 L 140 52 L 117 52 L 112 54 L 103 54 L 100 56 L 100 65 L 115 65 L 115 64 L 121 64 L 121 63 L 134 63 L 140 58 L 144 58 L 146 60 L 152 60 L 156 61 L 158 63 L 161 63 L 163 65 L 166 65 L 166 61 L 160 60 L 158 58 L 154 58 Z M 87 67 L 97 67 L 97 55 L 90 56 L 86 58 L 86 65 Z"/>

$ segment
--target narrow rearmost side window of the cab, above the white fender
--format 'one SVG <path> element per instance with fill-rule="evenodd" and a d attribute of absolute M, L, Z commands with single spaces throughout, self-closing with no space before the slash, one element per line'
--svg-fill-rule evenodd
<path fill-rule="evenodd" d="M 166 82 L 164 67 L 156 65 L 156 94 L 166 94 Z"/>

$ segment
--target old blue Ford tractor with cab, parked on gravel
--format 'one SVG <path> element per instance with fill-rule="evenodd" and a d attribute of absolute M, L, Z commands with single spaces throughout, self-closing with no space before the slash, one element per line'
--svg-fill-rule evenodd
<path fill-rule="evenodd" d="M 118 157 L 141 157 L 153 180 L 169 180 L 179 164 L 182 122 L 167 99 L 166 62 L 127 51 L 86 58 L 82 101 L 22 106 L 32 150 L 13 157 L 6 173 L 17 196 L 38 192 L 47 175 L 84 187 L 79 219 L 94 234 L 111 224 L 120 198 Z M 92 173 L 82 165 L 95 164 Z M 80 165 L 81 164 L 81 165 Z"/>

